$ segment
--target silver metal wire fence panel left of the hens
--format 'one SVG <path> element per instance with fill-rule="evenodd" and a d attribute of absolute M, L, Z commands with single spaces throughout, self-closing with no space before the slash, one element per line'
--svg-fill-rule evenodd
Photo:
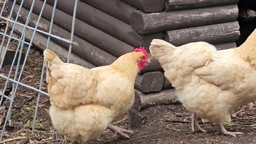
<path fill-rule="evenodd" d="M 3 15 L 4 10 L 5 10 L 5 8 L 7 7 L 7 4 L 8 4 L 7 0 L 5 0 L 3 2 L 3 7 L 2 7 L 2 10 L 1 10 L 1 13 L 0 13 L 0 21 L 1 20 L 5 20 L 6 21 L 6 28 L 5 28 L 4 32 L 3 33 L 0 32 L 0 35 L 3 36 L 1 47 L 0 47 L 1 48 L 0 49 L 0 55 L 3 55 L 2 61 L 1 61 L 1 64 L 0 64 L 0 71 L 3 68 L 3 62 L 4 62 L 4 59 L 6 59 L 6 52 L 7 52 L 7 50 L 10 47 L 11 40 L 14 39 L 14 40 L 18 41 L 18 46 L 15 47 L 15 55 L 14 55 L 12 64 L 10 66 L 11 68 L 10 68 L 9 74 L 7 76 L 5 76 L 3 74 L 0 74 L 0 77 L 5 79 L 5 82 L 2 81 L 2 83 L 5 83 L 5 85 L 4 85 L 4 89 L 3 89 L 2 93 L 0 93 L 1 94 L 0 106 L 1 106 L 1 103 L 2 103 L 3 99 L 10 100 L 10 106 L 8 108 L 8 112 L 7 112 L 7 115 L 6 115 L 4 124 L 3 124 L 0 141 L 2 141 L 2 138 L 3 138 L 3 135 L 4 135 L 4 131 L 6 129 L 7 123 L 11 120 L 11 115 L 12 115 L 11 111 L 12 111 L 12 107 L 13 107 L 13 102 L 14 102 L 15 95 L 17 95 L 17 89 L 18 89 L 19 86 L 24 86 L 24 87 L 27 87 L 28 89 L 31 89 L 31 90 L 34 90 L 34 91 L 38 92 L 37 102 L 36 102 L 36 106 L 35 106 L 34 120 L 33 120 L 32 131 L 31 131 L 32 133 L 34 133 L 34 131 L 35 131 L 35 123 L 36 123 L 36 119 L 37 119 L 37 111 L 38 111 L 39 99 L 41 97 L 41 94 L 48 95 L 46 92 L 42 91 L 42 83 L 43 83 L 43 77 L 44 77 L 44 71 L 45 71 L 44 63 L 43 63 L 43 66 L 42 66 L 42 73 L 41 73 L 41 78 L 40 78 L 40 83 L 39 83 L 39 89 L 36 89 L 35 85 L 28 85 L 26 83 L 21 83 L 20 82 L 22 74 L 23 74 L 23 70 L 27 66 L 26 65 L 26 61 L 28 59 L 28 54 L 30 52 L 31 46 L 33 46 L 32 43 L 33 43 L 33 40 L 34 40 L 34 36 L 35 36 L 36 33 L 41 33 L 41 34 L 44 34 L 44 35 L 46 35 L 48 37 L 47 45 L 46 45 L 45 49 L 49 49 L 49 43 L 50 43 L 51 37 L 54 37 L 54 38 L 59 39 L 60 41 L 69 43 L 69 51 L 68 51 L 68 58 L 67 58 L 67 62 L 69 62 L 70 54 L 71 54 L 71 49 L 72 49 L 72 44 L 73 44 L 75 17 L 76 17 L 76 9 L 77 9 L 77 2 L 78 2 L 78 0 L 75 0 L 74 13 L 73 13 L 73 23 L 72 23 L 72 28 L 71 28 L 70 39 L 65 39 L 65 38 L 61 38 L 59 36 L 51 34 L 52 33 L 53 20 L 54 20 L 54 12 L 55 12 L 58 0 L 55 0 L 55 2 L 54 2 L 53 12 L 52 12 L 52 19 L 51 19 L 51 24 L 50 24 L 50 30 L 49 31 L 43 31 L 43 30 L 37 29 L 38 28 L 38 23 L 41 20 L 42 13 L 44 11 L 44 6 L 45 6 L 45 3 L 46 3 L 46 0 L 44 0 L 43 7 L 42 7 L 42 10 L 41 10 L 41 12 L 39 14 L 39 18 L 37 20 L 37 23 L 36 23 L 35 27 L 28 26 L 28 23 L 29 23 L 31 14 L 33 12 L 33 8 L 34 8 L 36 0 L 33 1 L 32 5 L 30 7 L 29 14 L 28 14 L 28 17 L 27 17 L 27 20 L 26 20 L 25 24 L 18 22 L 18 17 L 16 17 L 15 19 L 12 18 L 13 9 L 14 9 L 14 5 L 16 3 L 16 0 L 12 0 L 12 1 L 13 1 L 13 5 L 11 7 L 11 10 L 9 10 L 9 15 L 7 17 L 5 17 Z M 21 7 L 22 7 L 22 4 L 23 4 L 24 1 L 25 0 L 21 1 L 19 10 L 17 12 L 17 15 L 20 14 Z M 10 9 L 10 7 L 9 7 L 9 9 Z M 9 27 L 10 25 L 12 25 L 12 28 Z M 13 36 L 14 28 L 15 28 L 16 25 L 19 25 L 19 26 L 23 27 L 23 31 L 22 31 L 22 34 L 20 35 L 20 38 L 16 38 L 16 37 Z M 30 41 L 25 41 L 26 30 L 27 29 L 31 29 L 31 30 L 34 31 L 33 35 L 31 36 Z M 7 42 L 7 43 L 5 43 L 5 42 Z M 25 59 L 23 60 L 23 63 L 22 63 L 21 62 L 21 54 L 22 54 L 22 50 L 24 49 L 25 45 L 28 45 L 28 48 L 27 48 L 27 52 L 26 52 L 26 55 L 25 55 Z M 4 47 L 6 49 L 4 49 Z M 15 73 L 14 74 L 14 78 L 11 78 L 10 76 L 13 73 L 14 63 L 15 63 L 15 59 L 17 57 L 18 57 L 18 62 L 17 62 L 16 69 L 15 69 L 15 72 L 14 72 Z M 10 82 L 13 85 L 11 98 L 8 97 L 8 95 L 4 95 L 4 93 L 5 93 L 6 89 L 7 89 L 7 85 Z"/>

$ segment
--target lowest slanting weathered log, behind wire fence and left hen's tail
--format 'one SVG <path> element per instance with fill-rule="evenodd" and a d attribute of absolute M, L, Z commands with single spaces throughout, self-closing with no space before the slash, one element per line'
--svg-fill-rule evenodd
<path fill-rule="evenodd" d="M 9 26 L 10 26 L 10 28 L 12 28 L 13 23 L 10 22 Z M 21 36 L 23 28 L 24 27 L 22 27 L 20 25 L 16 25 L 14 28 L 14 33 Z M 26 30 L 26 41 L 27 42 L 31 41 L 31 37 L 32 37 L 33 33 L 34 33 L 34 30 L 31 30 L 31 29 Z M 33 44 L 33 46 L 37 47 L 39 50 L 44 51 L 46 49 L 46 45 L 47 45 L 47 38 L 45 36 L 39 34 L 38 32 L 36 32 L 32 44 Z M 62 61 L 67 61 L 68 50 L 66 50 L 65 48 L 61 47 L 60 45 L 58 45 L 52 41 L 50 41 L 50 43 L 49 43 L 49 49 L 51 49 L 52 51 L 57 53 Z M 83 66 L 83 67 L 86 67 L 86 68 L 94 68 L 95 67 L 94 65 L 92 65 L 92 63 L 82 59 L 81 57 L 78 57 L 74 53 L 71 53 L 71 55 L 70 55 L 70 62 L 75 63 L 80 66 Z"/>

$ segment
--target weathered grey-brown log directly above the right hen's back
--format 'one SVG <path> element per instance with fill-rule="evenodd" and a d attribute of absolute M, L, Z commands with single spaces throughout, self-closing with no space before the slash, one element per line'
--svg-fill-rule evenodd
<path fill-rule="evenodd" d="M 175 46 L 191 42 L 211 44 L 235 42 L 240 36 L 237 21 L 166 31 L 165 41 Z"/>

